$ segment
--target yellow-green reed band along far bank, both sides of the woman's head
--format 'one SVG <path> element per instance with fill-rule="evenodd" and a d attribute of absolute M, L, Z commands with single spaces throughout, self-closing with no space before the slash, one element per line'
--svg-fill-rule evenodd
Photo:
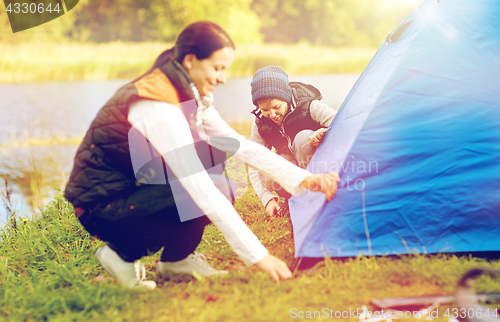
<path fill-rule="evenodd" d="M 135 78 L 148 70 L 156 57 L 170 46 L 164 43 L 120 42 L 2 43 L 0 82 Z M 257 69 L 267 65 L 280 65 L 289 74 L 359 73 L 374 53 L 374 48 L 243 44 L 237 47 L 236 59 L 228 76 L 252 76 Z"/>

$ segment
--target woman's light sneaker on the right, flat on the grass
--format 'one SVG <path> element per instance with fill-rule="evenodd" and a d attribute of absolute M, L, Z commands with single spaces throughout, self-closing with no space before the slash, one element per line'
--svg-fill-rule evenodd
<path fill-rule="evenodd" d="M 189 254 L 188 257 L 177 262 L 158 262 L 156 272 L 162 276 L 168 271 L 174 273 L 192 274 L 198 273 L 200 276 L 225 275 L 228 271 L 216 270 L 207 262 L 205 255 L 200 253 Z"/>

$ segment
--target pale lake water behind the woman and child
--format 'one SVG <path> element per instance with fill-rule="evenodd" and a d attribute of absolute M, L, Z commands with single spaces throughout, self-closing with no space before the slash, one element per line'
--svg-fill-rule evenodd
<path fill-rule="evenodd" d="M 323 102 L 338 109 L 358 76 L 300 75 L 290 79 L 313 84 L 321 91 Z M 252 121 L 250 80 L 229 79 L 214 91 L 214 105 L 226 121 Z M 9 181 L 12 205 L 18 214 L 31 215 L 50 199 L 54 188 L 63 189 L 77 146 L 5 144 L 83 136 L 99 109 L 128 81 L 0 84 L 0 145 L 4 145 L 0 147 L 0 177 Z M 37 177 L 36 173 L 42 175 Z M 5 192 L 3 179 L 0 191 Z M 0 222 L 5 222 L 6 216 L 0 199 Z"/>

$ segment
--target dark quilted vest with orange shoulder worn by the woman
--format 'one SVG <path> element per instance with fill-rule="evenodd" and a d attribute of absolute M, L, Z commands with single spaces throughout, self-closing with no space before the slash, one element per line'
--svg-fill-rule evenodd
<path fill-rule="evenodd" d="M 129 106 L 140 99 L 165 101 L 172 104 L 192 99 L 189 81 L 179 72 L 179 67 L 169 62 L 138 80 L 120 88 L 101 108 L 77 150 L 73 169 L 65 189 L 65 197 L 73 206 L 92 209 L 96 205 L 127 197 L 141 185 L 154 183 L 151 175 L 153 166 L 161 157 L 146 163 L 134 175 L 130 148 L 128 122 Z M 183 110 L 188 122 L 195 117 L 196 111 Z M 195 142 L 199 137 L 191 131 Z M 200 144 L 198 144 L 200 143 Z M 222 164 L 226 154 L 201 141 L 196 150 L 205 169 Z M 151 152 L 151 151 L 149 151 Z M 153 154 L 153 152 L 151 152 Z M 156 155 L 159 155 L 156 152 Z M 168 166 L 163 162 L 164 170 Z M 157 167 L 156 167 L 157 168 Z M 169 169 L 168 169 L 169 170 Z M 168 173 L 172 173 L 169 171 Z M 220 173 L 220 168 L 218 173 Z M 148 176 L 139 177 L 141 174 Z M 165 178 L 165 175 L 162 174 Z M 168 185 L 168 180 L 167 183 Z M 173 198 L 172 196 L 167 196 Z"/>

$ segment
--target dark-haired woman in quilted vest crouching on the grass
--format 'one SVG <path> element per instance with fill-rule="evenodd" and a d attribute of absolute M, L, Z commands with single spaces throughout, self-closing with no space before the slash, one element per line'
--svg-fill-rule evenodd
<path fill-rule="evenodd" d="M 217 151 L 200 138 L 210 137 L 213 147 L 235 153 L 293 194 L 309 188 L 330 200 L 336 193 L 335 173 L 311 175 L 246 140 L 220 118 L 211 94 L 225 83 L 234 48 L 214 23 L 188 26 L 151 70 L 106 103 L 77 151 L 65 196 L 83 226 L 108 242 L 97 257 L 122 285 L 153 289 L 154 281 L 136 276 L 134 261 L 162 247 L 159 275 L 223 274 L 193 253 L 210 221 L 246 264 L 257 264 L 275 280 L 291 277 L 217 189 L 223 178 L 205 171 L 219 161 L 214 162 Z"/>

